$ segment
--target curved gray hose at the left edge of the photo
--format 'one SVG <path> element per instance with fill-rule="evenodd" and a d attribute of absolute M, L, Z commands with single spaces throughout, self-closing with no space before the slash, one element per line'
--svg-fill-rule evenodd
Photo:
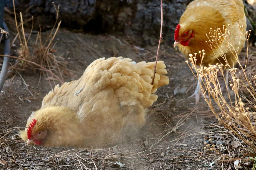
<path fill-rule="evenodd" d="M 6 32 L 9 32 L 8 27 L 5 22 L 3 22 L 3 29 Z M 10 55 L 10 38 L 9 37 L 4 40 L 4 55 L 6 55 L 6 56 Z M 10 61 L 9 57 L 4 57 L 3 67 L 2 67 L 1 74 L 0 74 L 0 93 L 4 86 L 4 81 L 6 79 L 9 61 Z"/>

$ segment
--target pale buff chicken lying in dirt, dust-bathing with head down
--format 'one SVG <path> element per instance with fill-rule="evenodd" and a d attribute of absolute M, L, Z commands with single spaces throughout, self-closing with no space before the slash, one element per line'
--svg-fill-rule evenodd
<path fill-rule="evenodd" d="M 80 79 L 56 85 L 33 112 L 20 135 L 42 146 L 103 146 L 138 131 L 157 88 L 169 83 L 163 61 L 135 63 L 129 58 L 100 58 Z"/>

